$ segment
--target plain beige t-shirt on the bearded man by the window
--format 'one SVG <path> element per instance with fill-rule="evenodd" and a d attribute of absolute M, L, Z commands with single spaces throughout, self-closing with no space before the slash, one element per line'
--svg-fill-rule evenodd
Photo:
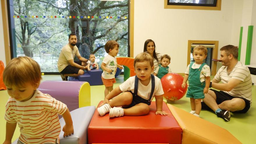
<path fill-rule="evenodd" d="M 69 60 L 74 59 L 75 56 L 81 56 L 77 46 L 74 46 L 73 50 L 67 44 L 61 49 L 61 53 L 58 59 L 58 71 L 61 72 L 65 67 L 70 65 Z"/>

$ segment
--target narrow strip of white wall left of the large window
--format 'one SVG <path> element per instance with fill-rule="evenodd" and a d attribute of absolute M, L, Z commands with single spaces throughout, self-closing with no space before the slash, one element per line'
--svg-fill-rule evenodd
<path fill-rule="evenodd" d="M 2 7 L 0 3 L 0 16 L 2 16 Z M 6 66 L 4 40 L 3 40 L 3 19 L 0 17 L 0 61 L 3 61 Z"/>

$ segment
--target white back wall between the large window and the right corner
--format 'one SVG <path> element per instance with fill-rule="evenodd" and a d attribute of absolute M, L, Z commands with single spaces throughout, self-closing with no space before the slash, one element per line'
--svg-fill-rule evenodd
<path fill-rule="evenodd" d="M 171 56 L 172 72 L 184 73 L 188 40 L 218 40 L 219 48 L 238 46 L 241 2 L 224 0 L 221 10 L 164 9 L 163 5 L 164 0 L 134 2 L 134 56 L 143 51 L 145 40 L 152 39 L 157 52 Z"/>

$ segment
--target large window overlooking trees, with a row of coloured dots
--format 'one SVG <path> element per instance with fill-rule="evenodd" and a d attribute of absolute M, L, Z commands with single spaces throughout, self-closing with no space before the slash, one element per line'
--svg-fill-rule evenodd
<path fill-rule="evenodd" d="M 108 40 L 120 44 L 119 56 L 129 56 L 129 0 L 10 0 L 8 6 L 12 57 L 32 57 L 42 72 L 58 72 L 70 33 L 85 58 L 105 56 Z"/>

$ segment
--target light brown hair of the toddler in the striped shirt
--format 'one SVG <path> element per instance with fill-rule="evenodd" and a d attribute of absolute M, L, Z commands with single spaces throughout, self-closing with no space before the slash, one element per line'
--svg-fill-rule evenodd
<path fill-rule="evenodd" d="M 39 64 L 27 56 L 13 58 L 3 71 L 3 82 L 7 86 L 22 86 L 27 82 L 39 85 L 41 79 Z"/>

